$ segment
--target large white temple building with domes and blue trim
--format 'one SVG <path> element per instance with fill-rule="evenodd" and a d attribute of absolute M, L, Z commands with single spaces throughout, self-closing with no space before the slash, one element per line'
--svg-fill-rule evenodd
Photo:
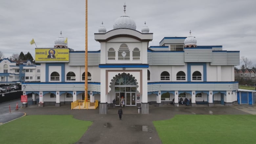
<path fill-rule="evenodd" d="M 146 22 L 138 31 L 125 6 L 113 30 L 102 23 L 94 36 L 100 51 L 88 51 L 87 94 L 91 102 L 100 102 L 100 114 L 107 113 L 113 99 L 119 105 L 122 97 L 125 106 L 141 107 L 142 114 L 150 113 L 149 104 L 178 107 L 180 98 L 190 100 L 192 107 L 237 101 L 234 66 L 240 64 L 239 51 L 198 46 L 191 31 L 188 37 L 164 37 L 159 46 L 149 46 L 153 33 Z M 41 107 L 84 98 L 85 51 L 68 48 L 61 35 L 53 48 L 35 49 L 35 62 L 41 63 L 40 82 L 24 84 L 24 95 L 32 93 Z"/>

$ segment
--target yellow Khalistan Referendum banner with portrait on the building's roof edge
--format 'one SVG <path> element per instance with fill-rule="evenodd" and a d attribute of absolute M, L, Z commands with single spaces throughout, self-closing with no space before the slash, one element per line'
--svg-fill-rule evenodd
<path fill-rule="evenodd" d="M 69 49 L 35 49 L 35 61 L 69 61 Z"/>

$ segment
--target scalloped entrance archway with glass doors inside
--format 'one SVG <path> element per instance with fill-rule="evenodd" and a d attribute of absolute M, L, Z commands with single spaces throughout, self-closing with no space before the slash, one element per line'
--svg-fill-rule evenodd
<path fill-rule="evenodd" d="M 136 106 L 136 93 L 138 82 L 130 73 L 118 73 L 116 77 L 113 77 L 110 85 L 115 85 L 115 98 L 116 105 L 120 106 L 120 103 L 124 100 L 124 106 Z"/>

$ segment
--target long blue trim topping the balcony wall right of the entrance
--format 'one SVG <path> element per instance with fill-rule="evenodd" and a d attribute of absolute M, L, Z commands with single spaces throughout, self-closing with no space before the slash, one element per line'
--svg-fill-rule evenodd
<path fill-rule="evenodd" d="M 235 84 L 238 81 L 232 82 L 148 82 L 148 85 L 153 84 Z"/>

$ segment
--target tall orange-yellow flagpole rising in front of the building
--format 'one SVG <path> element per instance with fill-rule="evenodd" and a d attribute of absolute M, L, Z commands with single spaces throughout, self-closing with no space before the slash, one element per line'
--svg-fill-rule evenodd
<path fill-rule="evenodd" d="M 84 79 L 84 96 L 85 101 L 88 101 L 88 10 L 87 10 L 87 0 L 85 0 L 85 79 Z M 88 108 L 88 105 L 87 105 Z"/>

